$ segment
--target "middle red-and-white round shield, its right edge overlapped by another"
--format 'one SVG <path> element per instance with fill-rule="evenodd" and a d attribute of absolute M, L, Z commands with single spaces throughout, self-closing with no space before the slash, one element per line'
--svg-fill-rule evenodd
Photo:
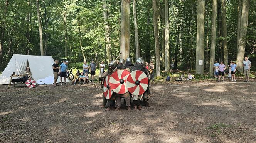
<path fill-rule="evenodd" d="M 117 94 L 125 94 L 128 92 L 126 79 L 129 74 L 130 72 L 125 69 L 118 69 L 113 72 L 109 78 L 110 89 Z"/>

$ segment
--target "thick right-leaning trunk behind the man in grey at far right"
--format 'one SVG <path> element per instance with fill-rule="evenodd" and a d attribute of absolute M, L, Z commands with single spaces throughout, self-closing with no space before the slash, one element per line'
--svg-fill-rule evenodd
<path fill-rule="evenodd" d="M 237 51 L 237 70 L 243 71 L 243 59 L 245 53 L 246 45 L 246 33 L 248 26 L 248 16 L 249 16 L 249 0 L 243 0 L 242 16 L 241 16 L 241 29 L 239 36 L 239 48 Z"/>

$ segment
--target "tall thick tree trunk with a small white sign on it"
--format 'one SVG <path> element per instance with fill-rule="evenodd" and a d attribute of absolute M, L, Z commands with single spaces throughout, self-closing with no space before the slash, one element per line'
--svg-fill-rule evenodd
<path fill-rule="evenodd" d="M 204 7 L 204 0 L 197 0 L 197 47 L 195 73 L 201 75 L 204 74 Z"/>

